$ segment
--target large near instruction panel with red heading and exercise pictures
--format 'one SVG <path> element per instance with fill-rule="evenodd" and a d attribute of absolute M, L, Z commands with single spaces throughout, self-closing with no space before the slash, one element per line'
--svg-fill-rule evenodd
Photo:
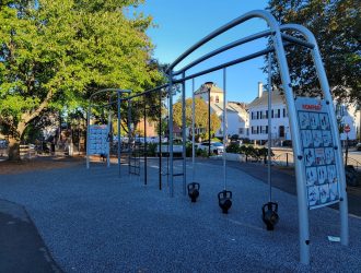
<path fill-rule="evenodd" d="M 337 146 L 331 134 L 326 102 L 298 97 L 295 100 L 301 131 L 308 209 L 322 207 L 339 201 L 339 167 Z"/>

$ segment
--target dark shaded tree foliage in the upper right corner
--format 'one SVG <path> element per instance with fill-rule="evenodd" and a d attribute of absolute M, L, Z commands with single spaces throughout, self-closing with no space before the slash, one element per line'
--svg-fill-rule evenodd
<path fill-rule="evenodd" d="M 268 9 L 284 23 L 306 26 L 316 37 L 333 95 L 341 102 L 361 103 L 361 7 L 356 0 L 270 0 Z M 310 49 L 287 48 L 293 90 L 298 95 L 318 95 L 319 84 Z M 267 70 L 267 68 L 265 68 Z M 272 68 L 272 82 L 280 86 Z"/>

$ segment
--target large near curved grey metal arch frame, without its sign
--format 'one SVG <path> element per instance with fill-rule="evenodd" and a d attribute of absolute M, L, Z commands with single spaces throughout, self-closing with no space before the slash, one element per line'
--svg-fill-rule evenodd
<path fill-rule="evenodd" d="M 228 44 L 217 50 L 213 50 L 191 63 L 185 66 L 183 69 L 178 71 L 173 71 L 174 68 L 179 64 L 186 57 L 188 57 L 190 54 L 193 54 L 196 49 L 200 48 L 202 45 L 210 41 L 218 35 L 229 31 L 230 28 L 242 24 L 251 19 L 263 19 L 266 21 L 266 23 L 269 26 L 269 31 L 258 33 L 252 36 L 248 36 L 246 38 L 236 40 L 234 43 Z M 293 29 L 296 32 L 300 32 L 306 40 L 302 40 L 289 35 L 286 35 L 281 33 L 281 31 L 286 29 Z M 248 55 L 243 58 L 235 59 L 233 61 L 229 61 L 226 63 L 213 67 L 211 69 L 203 70 L 198 73 L 194 73 L 191 75 L 185 76 L 185 73 L 188 69 L 195 67 L 196 64 L 213 57 L 217 56 L 220 52 L 223 52 L 230 48 L 236 47 L 238 45 L 245 44 L 247 41 L 260 38 L 260 37 L 266 37 L 270 36 L 271 37 L 271 43 L 272 47 L 267 48 L 261 51 L 257 51 L 255 54 Z M 256 10 L 256 11 L 251 11 L 233 21 L 230 23 L 219 27 L 214 32 L 210 33 L 208 36 L 206 36 L 203 39 L 199 40 L 197 44 L 191 46 L 189 49 L 187 49 L 183 55 L 180 55 L 166 70 L 166 73 L 168 75 L 168 86 L 170 91 L 172 90 L 173 84 L 176 83 L 184 83 L 186 80 L 195 79 L 196 76 L 213 72 L 240 62 L 244 62 L 246 60 L 260 57 L 263 55 L 266 55 L 268 52 L 275 51 L 276 54 L 276 59 L 278 62 L 278 67 L 280 70 L 280 75 L 282 80 L 282 87 L 284 91 L 284 97 L 287 102 L 287 107 L 289 111 L 289 122 L 290 122 L 290 130 L 291 130 L 291 136 L 292 136 L 292 146 L 293 146 L 293 154 L 294 154 L 294 165 L 295 165 L 295 171 L 296 171 L 296 188 L 298 188 L 298 206 L 299 206 L 299 229 L 300 229 L 300 261 L 301 263 L 304 264 L 310 264 L 310 230 L 308 230 L 308 207 L 307 207 L 307 202 L 306 202 L 306 189 L 303 185 L 303 181 L 305 181 L 305 174 L 302 171 L 303 170 L 303 152 L 302 152 L 302 146 L 301 146 L 301 138 L 300 138 L 300 127 L 299 127 L 299 121 L 296 118 L 296 110 L 295 110 L 295 103 L 294 103 L 294 97 L 293 97 L 293 91 L 292 91 L 292 85 L 291 85 L 291 78 L 289 73 L 289 67 L 287 62 L 287 57 L 286 57 L 286 51 L 284 47 L 288 46 L 287 43 L 283 43 L 283 39 L 287 43 L 292 43 L 292 44 L 299 44 L 301 46 L 307 47 L 312 50 L 312 56 L 314 59 L 314 63 L 316 66 L 316 71 L 318 79 L 321 81 L 322 90 L 324 92 L 326 100 L 329 102 L 329 112 L 330 112 L 330 119 L 333 126 L 333 132 L 334 135 L 337 138 L 337 142 L 339 142 L 339 136 L 337 133 L 335 133 L 335 130 L 337 127 L 335 127 L 336 122 L 336 116 L 334 111 L 334 106 L 333 106 L 333 99 L 330 96 L 329 92 L 329 86 L 326 78 L 325 70 L 323 68 L 322 61 L 321 61 L 321 56 L 317 47 L 316 39 L 314 38 L 313 34 L 305 27 L 295 25 L 295 24 L 288 24 L 283 26 L 279 26 L 276 19 L 267 11 L 263 10 Z M 182 74 L 180 79 L 174 79 L 173 76 Z M 185 92 L 183 90 L 183 92 Z M 173 98 L 172 98 L 172 93 L 170 92 L 170 132 L 173 132 Z M 183 109 L 184 110 L 184 109 Z M 170 189 L 170 194 L 173 197 L 173 134 L 170 133 L 170 151 L 171 151 L 171 162 L 170 162 L 170 173 L 171 173 L 171 189 Z M 339 150 L 337 161 L 341 162 L 341 151 Z M 340 183 L 341 183 L 341 201 L 340 201 L 340 214 L 341 214 L 341 242 L 342 245 L 348 245 L 348 207 L 347 207 L 347 193 L 346 193 L 346 181 L 345 181 L 345 170 L 340 169 L 340 175 L 342 177 Z"/>

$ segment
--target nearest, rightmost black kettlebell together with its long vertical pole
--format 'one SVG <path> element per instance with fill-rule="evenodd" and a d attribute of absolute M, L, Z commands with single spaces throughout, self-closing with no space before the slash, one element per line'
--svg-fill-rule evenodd
<path fill-rule="evenodd" d="M 267 159 L 267 170 L 268 170 L 268 185 L 269 185 L 269 200 L 268 203 L 264 204 L 261 207 L 261 218 L 266 224 L 267 230 L 273 230 L 275 225 L 279 221 L 278 216 L 278 203 L 272 202 L 272 181 L 271 181 L 271 63 L 272 63 L 272 56 L 268 54 L 268 159 Z M 266 210 L 267 209 L 267 210 Z"/>

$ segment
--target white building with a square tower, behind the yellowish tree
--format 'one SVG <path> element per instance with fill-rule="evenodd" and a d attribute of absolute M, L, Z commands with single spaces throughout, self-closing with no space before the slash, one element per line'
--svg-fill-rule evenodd
<path fill-rule="evenodd" d="M 210 102 L 211 112 L 216 112 L 220 120 L 223 120 L 223 90 L 213 82 L 206 82 L 197 91 L 195 97 L 202 98 L 207 104 Z M 238 138 L 248 138 L 248 114 L 246 104 L 226 103 L 228 135 L 237 134 Z M 223 136 L 223 123 L 216 136 Z"/>

